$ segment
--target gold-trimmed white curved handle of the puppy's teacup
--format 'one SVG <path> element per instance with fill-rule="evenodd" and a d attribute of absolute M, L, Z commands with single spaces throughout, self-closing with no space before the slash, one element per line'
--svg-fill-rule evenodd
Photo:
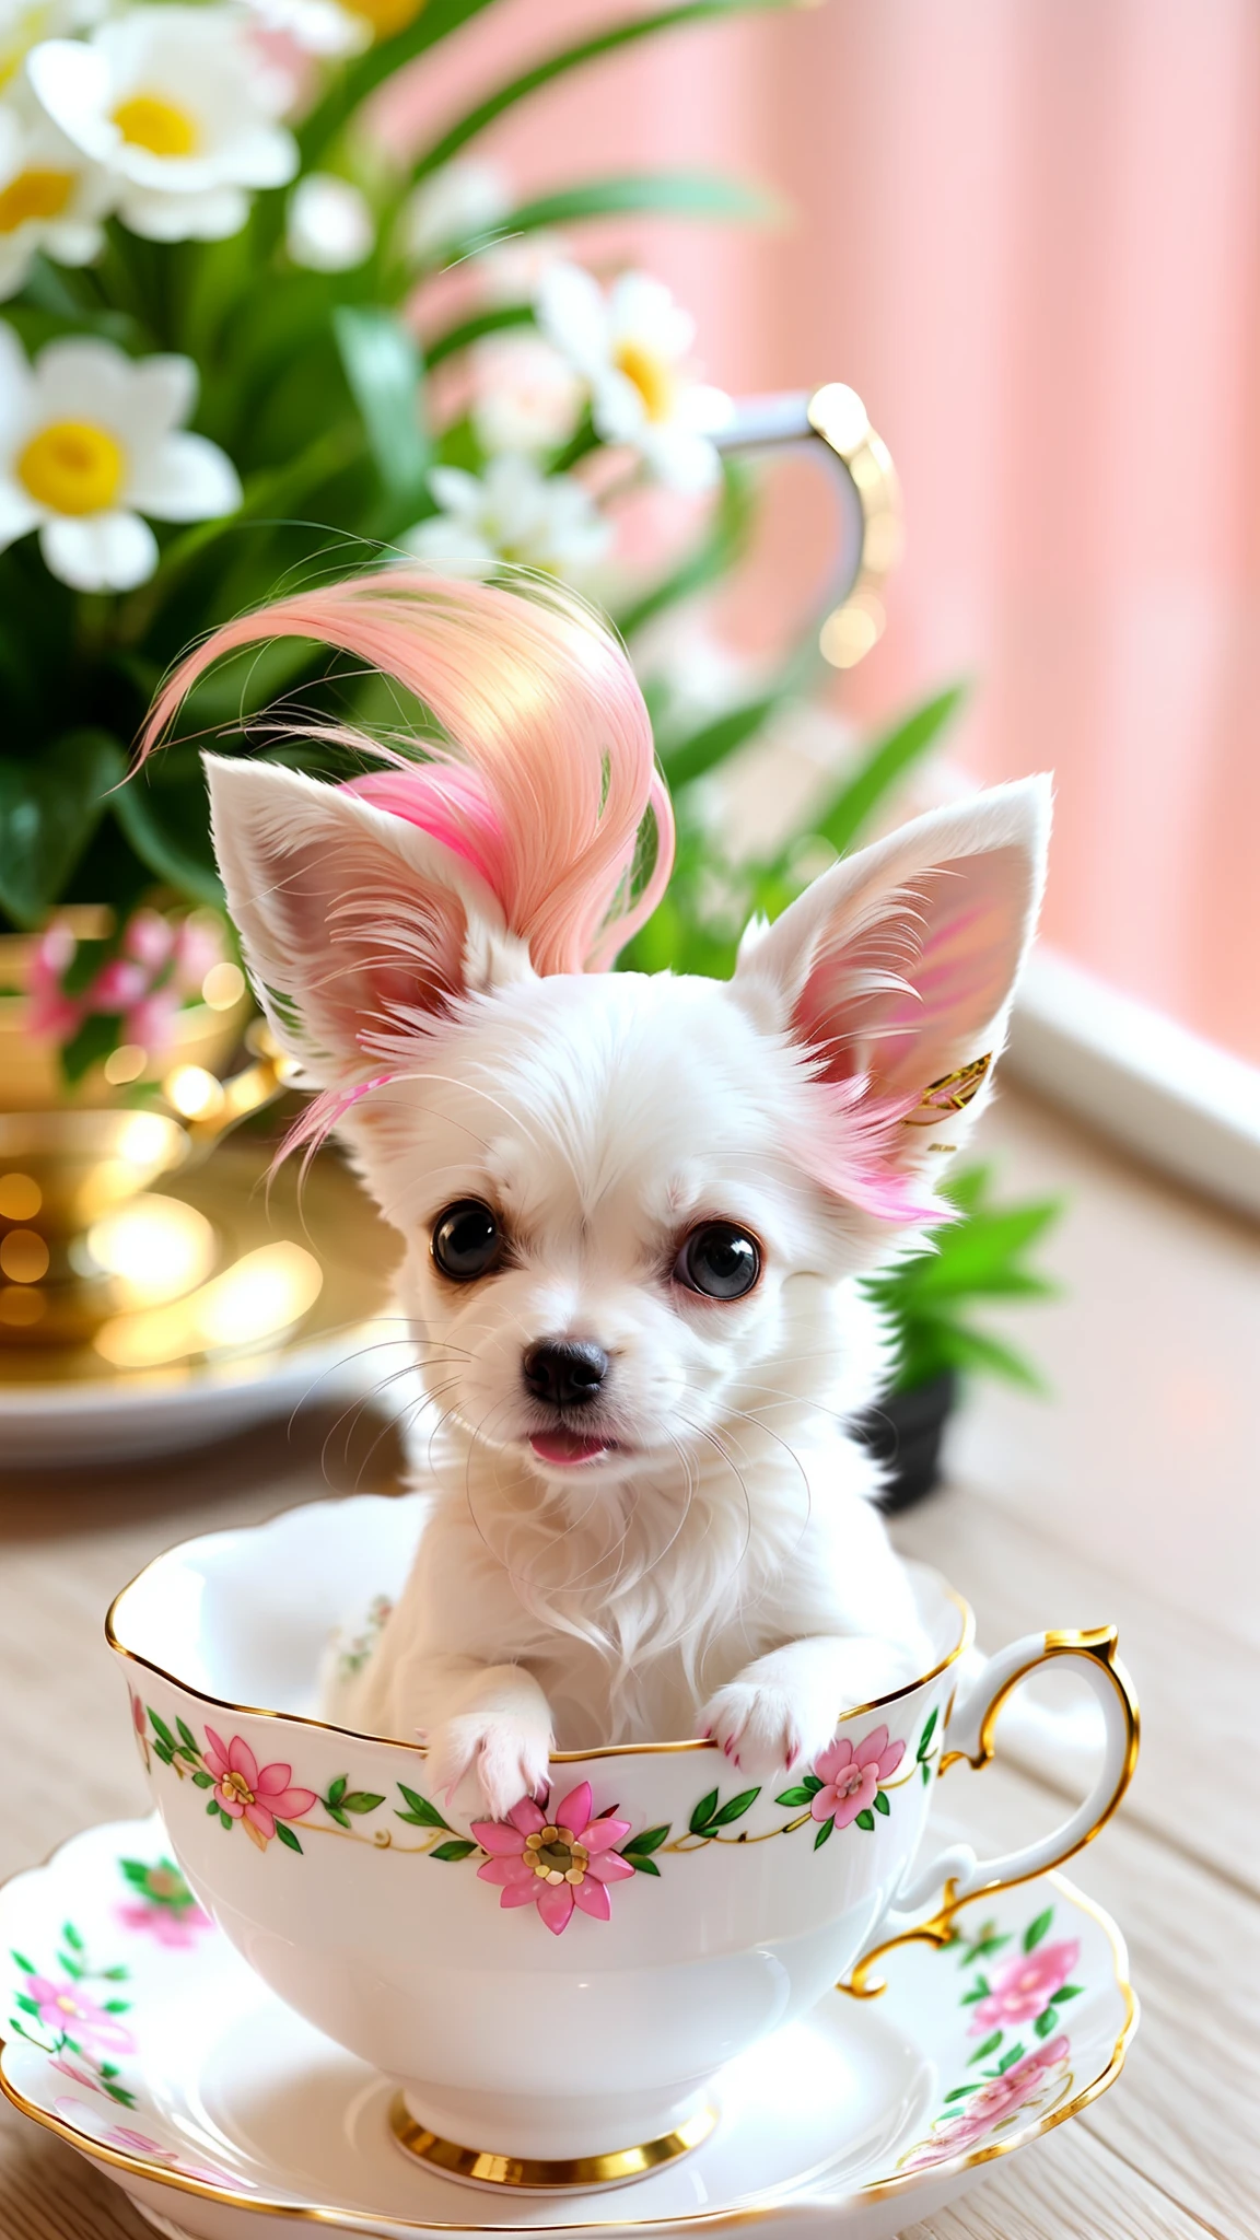
<path fill-rule="evenodd" d="M 939 1772 L 944 1774 L 962 1761 L 978 1770 L 989 1765 L 995 1747 L 993 1729 L 998 1711 L 1007 1702 L 1007 1696 L 1029 1673 L 1058 1662 L 1067 1662 L 1081 1673 L 1103 1711 L 1103 1767 L 1094 1788 L 1076 1805 L 1076 1812 L 1034 1844 L 1022 1844 L 1018 1850 L 1007 1850 L 995 1859 L 980 1859 L 971 1844 L 951 1844 L 928 1866 L 919 1868 L 912 1879 L 904 1882 L 892 1902 L 892 1913 L 881 1922 L 883 1931 L 888 1931 L 897 1915 L 921 1906 L 942 1884 L 944 1904 L 930 1920 L 895 1931 L 892 1935 L 881 1935 L 854 1962 L 847 1982 L 841 1985 L 854 1998 L 872 1998 L 883 1989 L 881 1982 L 868 1980 L 868 1971 L 881 1953 L 895 1944 L 910 1942 L 946 1944 L 953 1935 L 953 1913 L 966 1897 L 975 1897 L 982 1891 L 1009 1891 L 1016 1882 L 1029 1882 L 1034 1875 L 1049 1873 L 1051 1866 L 1063 1866 L 1065 1859 L 1083 1850 L 1099 1835 L 1099 1828 L 1105 1828 L 1110 1821 L 1132 1781 L 1139 1745 L 1137 1696 L 1130 1676 L 1117 1658 L 1114 1626 L 1092 1626 L 1085 1633 L 1025 1633 L 1020 1642 L 1011 1642 L 1009 1649 L 1000 1649 L 995 1658 L 989 1658 L 966 1702 L 951 1718 L 951 1747 L 942 1756 Z"/>

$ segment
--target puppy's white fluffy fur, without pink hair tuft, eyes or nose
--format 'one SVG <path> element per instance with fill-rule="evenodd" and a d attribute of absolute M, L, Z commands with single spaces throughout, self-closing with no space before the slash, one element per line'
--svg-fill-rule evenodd
<path fill-rule="evenodd" d="M 464 1814 L 538 1790 L 554 1745 L 711 1729 L 751 1776 L 812 1758 L 836 1714 L 912 1678 L 926 1644 L 870 1505 L 877 1472 L 845 1436 L 888 1375 L 854 1279 L 912 1230 L 859 1212 L 798 1156 L 821 1095 L 807 1010 L 832 1006 L 832 1048 L 850 1046 L 847 1071 L 883 1095 L 995 1053 L 1040 896 L 1047 784 L 937 811 L 836 865 L 720 983 L 538 979 L 424 833 L 280 768 L 209 771 L 229 905 L 318 1086 L 381 1071 L 363 1021 L 390 1026 L 399 945 L 374 900 L 388 918 L 413 909 L 413 950 L 435 898 L 448 923 L 455 896 L 464 930 L 453 1010 L 419 1006 L 410 1039 L 390 1015 L 392 1080 L 341 1122 L 406 1239 L 408 1348 L 388 1362 L 410 1380 L 428 1512 L 381 1642 L 330 1714 L 424 1736 L 433 1788 Z M 966 968 L 937 956 L 917 977 L 946 907 Z M 935 1127 L 897 1122 L 888 1158 L 935 1176 L 984 1093 Z M 498 1210 L 513 1257 L 457 1288 L 430 1232 L 469 1196 Z M 765 1254 L 731 1304 L 670 1281 L 679 1239 L 717 1216 Z M 529 1445 L 547 1411 L 522 1351 L 545 1337 L 612 1357 L 592 1416 L 617 1449 L 592 1463 L 547 1465 Z"/>

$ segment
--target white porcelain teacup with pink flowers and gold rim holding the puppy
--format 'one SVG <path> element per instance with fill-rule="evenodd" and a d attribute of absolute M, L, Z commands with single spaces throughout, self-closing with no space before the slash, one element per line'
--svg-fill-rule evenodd
<path fill-rule="evenodd" d="M 359 1496 L 186 1541 L 108 1633 L 197 1897 L 280 1998 L 397 2079 L 401 2144 L 453 2175 L 617 2184 L 686 2150 L 715 2072 L 888 1942 L 895 1906 L 1043 1873 L 1132 1774 L 1112 1628 L 1013 1642 L 957 1705 L 971 1613 L 917 1570 L 933 1669 L 845 1711 L 807 1772 L 756 1788 L 697 1740 L 558 1754 L 545 1814 L 473 1844 L 419 1747 L 309 1716 L 332 1626 L 399 1588 L 415 1532 L 413 1496 Z M 917 1866 L 933 1776 L 986 1763 L 1002 1700 L 1049 1658 L 1101 1702 L 1094 1792 L 1009 1857 Z"/>

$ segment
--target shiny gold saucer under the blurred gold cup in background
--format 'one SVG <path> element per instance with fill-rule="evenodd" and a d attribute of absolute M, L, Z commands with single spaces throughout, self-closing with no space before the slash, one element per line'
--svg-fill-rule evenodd
<path fill-rule="evenodd" d="M 182 1248 L 195 1239 L 191 1288 L 164 1297 L 152 1254 L 141 1254 L 130 1308 L 90 1342 L 0 1344 L 0 1418 L 7 1400 L 49 1387 L 139 1398 L 222 1384 L 233 1364 L 256 1384 L 296 1353 L 334 1351 L 341 1333 L 350 1355 L 361 1324 L 388 1306 L 399 1241 L 334 1154 L 316 1158 L 305 1180 L 294 1158 L 269 1183 L 271 1156 L 265 1142 L 224 1145 L 132 1201 L 137 1243 L 141 1223 L 146 1243 L 164 1232 Z"/>

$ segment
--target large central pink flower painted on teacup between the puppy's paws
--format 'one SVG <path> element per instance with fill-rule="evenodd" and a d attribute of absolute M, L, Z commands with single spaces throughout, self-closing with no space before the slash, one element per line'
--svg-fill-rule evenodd
<path fill-rule="evenodd" d="M 626 1882 L 634 1868 L 617 1850 L 630 1835 L 630 1821 L 592 1819 L 590 1781 L 581 1781 L 549 1812 L 522 1796 L 504 1821 L 473 1821 L 473 1835 L 491 1855 L 478 1875 L 498 1884 L 500 1906 L 538 1906 L 558 1938 L 574 1906 L 605 1922 L 612 1913 L 608 1884 Z"/>

